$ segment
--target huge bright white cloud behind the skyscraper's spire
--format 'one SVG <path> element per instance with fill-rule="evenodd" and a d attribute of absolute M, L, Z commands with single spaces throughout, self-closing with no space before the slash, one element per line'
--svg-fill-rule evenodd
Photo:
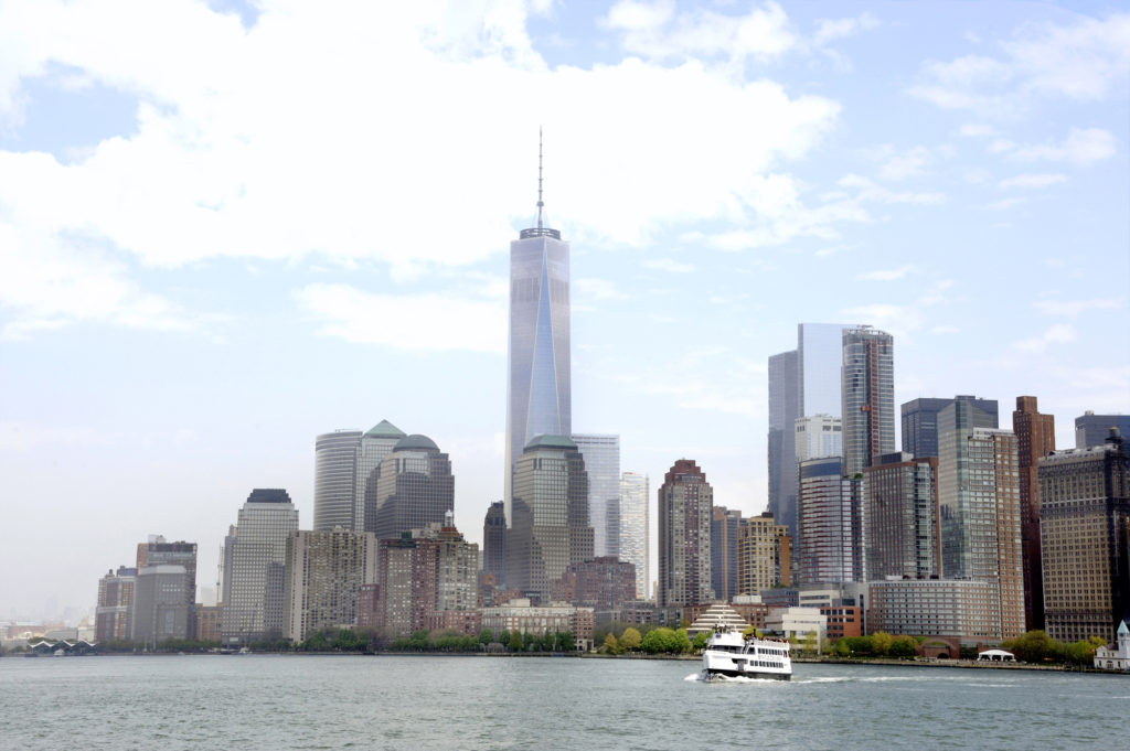
<path fill-rule="evenodd" d="M 531 221 L 539 123 L 548 217 L 576 242 L 640 246 L 660 228 L 713 220 L 745 232 L 764 217 L 781 217 L 774 237 L 793 236 L 792 199 L 775 193 L 773 171 L 823 139 L 835 103 L 693 60 L 550 70 L 525 12 L 516 0 L 394 11 L 279 3 L 245 30 L 189 0 L 3 6 L 0 117 L 26 77 L 51 66 L 139 101 L 136 132 L 77 163 L 0 151 L 0 247 L 19 260 L 0 281 L 0 306 L 16 316 L 9 335 L 85 318 L 198 325 L 133 281 L 138 265 L 318 254 L 334 265 L 381 261 L 410 281 L 480 262 Z M 702 35 L 687 50 L 705 53 L 728 28 L 709 16 L 694 16 Z M 723 46 L 772 54 L 791 44 L 775 36 L 779 6 L 744 18 Z M 531 107 L 521 91 L 554 106 Z M 459 128 L 452 112 L 463 114 Z M 822 208 L 800 232 L 844 220 L 854 218 Z M 76 237 L 108 250 L 88 253 Z M 61 291 L 96 282 L 75 296 L 95 300 L 84 306 Z"/>

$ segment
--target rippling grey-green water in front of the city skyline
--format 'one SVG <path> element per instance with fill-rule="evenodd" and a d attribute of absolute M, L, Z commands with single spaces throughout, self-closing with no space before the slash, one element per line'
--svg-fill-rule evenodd
<path fill-rule="evenodd" d="M 0 749 L 1128 749 L 1130 678 L 554 657 L 0 660 Z"/>

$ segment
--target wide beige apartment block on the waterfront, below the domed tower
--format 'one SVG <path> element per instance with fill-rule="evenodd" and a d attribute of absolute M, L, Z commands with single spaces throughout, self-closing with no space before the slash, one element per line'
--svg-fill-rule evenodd
<path fill-rule="evenodd" d="M 376 535 L 346 530 L 292 532 L 286 542 L 284 636 L 303 641 L 357 620 L 363 584 L 376 582 Z"/>

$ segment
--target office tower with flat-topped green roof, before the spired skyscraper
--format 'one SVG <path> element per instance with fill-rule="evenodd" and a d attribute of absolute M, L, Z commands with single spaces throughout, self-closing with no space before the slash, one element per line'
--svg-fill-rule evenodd
<path fill-rule="evenodd" d="M 506 586 L 548 602 L 550 584 L 572 562 L 592 558 L 589 477 L 565 436 L 530 440 L 514 468 L 506 534 Z"/>

